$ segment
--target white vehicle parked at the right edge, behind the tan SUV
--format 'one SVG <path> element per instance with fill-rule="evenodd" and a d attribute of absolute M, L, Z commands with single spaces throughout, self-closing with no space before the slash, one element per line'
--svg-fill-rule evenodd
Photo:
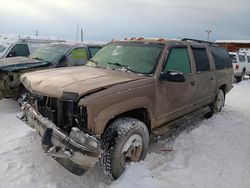
<path fill-rule="evenodd" d="M 229 52 L 229 55 L 234 67 L 234 77 L 240 82 L 245 75 L 250 75 L 250 53 Z"/>

